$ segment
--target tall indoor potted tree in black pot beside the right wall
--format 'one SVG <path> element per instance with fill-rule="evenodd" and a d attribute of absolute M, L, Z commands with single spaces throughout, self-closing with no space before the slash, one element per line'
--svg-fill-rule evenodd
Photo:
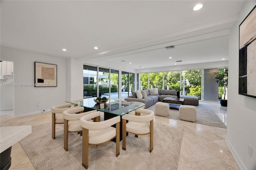
<path fill-rule="evenodd" d="M 226 100 L 226 88 L 228 87 L 228 67 L 224 67 L 224 71 L 219 71 L 214 73 L 214 81 L 219 83 L 220 86 L 224 87 L 224 99 L 220 99 L 220 105 L 227 107 L 228 100 Z"/>

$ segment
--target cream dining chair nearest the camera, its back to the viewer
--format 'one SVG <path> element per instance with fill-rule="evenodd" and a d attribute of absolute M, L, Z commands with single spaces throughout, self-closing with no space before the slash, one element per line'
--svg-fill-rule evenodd
<path fill-rule="evenodd" d="M 83 128 L 82 166 L 88 169 L 89 145 L 104 144 L 116 138 L 116 157 L 120 154 L 120 116 L 102 122 L 90 122 L 89 119 L 99 117 L 100 112 L 90 113 L 80 119 Z M 116 128 L 111 127 L 116 125 Z"/>

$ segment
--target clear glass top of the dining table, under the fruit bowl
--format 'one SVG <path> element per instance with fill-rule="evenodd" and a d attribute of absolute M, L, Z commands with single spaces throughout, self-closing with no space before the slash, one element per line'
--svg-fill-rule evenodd
<path fill-rule="evenodd" d="M 71 103 L 73 105 L 87 107 L 90 109 L 95 109 L 95 110 L 106 112 L 106 113 L 120 115 L 120 116 L 146 105 L 144 103 L 136 103 L 136 102 L 128 102 L 124 100 L 112 99 L 106 103 L 102 103 L 104 105 L 104 108 L 103 108 L 103 105 L 101 107 L 99 103 L 96 103 L 94 101 L 94 98 L 77 99 L 77 100 L 65 101 L 65 102 Z"/>

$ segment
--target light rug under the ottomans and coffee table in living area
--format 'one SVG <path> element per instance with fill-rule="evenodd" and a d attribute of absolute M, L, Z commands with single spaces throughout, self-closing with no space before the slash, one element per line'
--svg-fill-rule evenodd
<path fill-rule="evenodd" d="M 226 125 L 220 120 L 220 118 L 210 109 L 207 103 L 199 103 L 196 107 L 196 122 L 198 124 L 210 125 L 214 127 L 227 128 Z M 155 111 L 155 105 L 148 107 L 147 109 Z M 179 111 L 170 109 L 170 113 L 167 116 L 169 119 L 180 120 Z"/>

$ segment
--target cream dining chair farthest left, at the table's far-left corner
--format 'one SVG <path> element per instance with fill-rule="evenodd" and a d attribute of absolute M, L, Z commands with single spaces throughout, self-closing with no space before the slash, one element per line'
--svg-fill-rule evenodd
<path fill-rule="evenodd" d="M 71 109 L 72 107 L 80 107 L 80 106 L 74 106 L 70 103 L 62 104 L 62 105 L 56 105 L 51 108 L 52 111 L 52 138 L 55 139 L 55 126 L 56 124 L 63 124 L 63 112 L 67 109 Z"/>

